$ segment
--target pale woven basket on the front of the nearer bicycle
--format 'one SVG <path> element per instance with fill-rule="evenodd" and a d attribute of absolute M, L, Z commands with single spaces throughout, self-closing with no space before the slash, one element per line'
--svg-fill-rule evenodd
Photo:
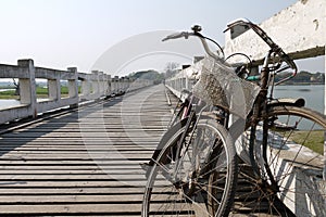
<path fill-rule="evenodd" d="M 235 68 L 212 58 L 205 58 L 193 94 L 212 105 L 246 117 L 252 108 L 260 87 L 237 76 Z"/>

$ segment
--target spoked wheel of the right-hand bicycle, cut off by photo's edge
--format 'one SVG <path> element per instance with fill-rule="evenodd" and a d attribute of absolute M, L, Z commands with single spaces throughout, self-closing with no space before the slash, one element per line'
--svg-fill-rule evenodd
<path fill-rule="evenodd" d="M 239 177 L 243 188 L 234 212 L 326 216 L 325 189 L 318 186 L 324 167 L 325 116 L 305 107 L 274 106 L 267 118 L 267 145 L 262 145 L 261 122 L 253 146 L 259 178 L 250 167 L 242 167 Z M 248 150 L 249 136 L 250 129 L 236 142 L 242 151 Z M 242 159 L 250 165 L 248 157 Z"/>

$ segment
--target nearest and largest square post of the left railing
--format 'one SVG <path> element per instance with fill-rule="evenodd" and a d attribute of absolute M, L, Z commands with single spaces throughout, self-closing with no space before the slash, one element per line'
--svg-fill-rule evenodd
<path fill-rule="evenodd" d="M 20 95 L 22 104 L 29 104 L 30 116 L 37 116 L 37 97 L 36 97 L 36 81 L 35 81 L 35 67 L 34 61 L 18 60 L 17 65 L 29 75 L 27 79 L 20 79 Z"/>

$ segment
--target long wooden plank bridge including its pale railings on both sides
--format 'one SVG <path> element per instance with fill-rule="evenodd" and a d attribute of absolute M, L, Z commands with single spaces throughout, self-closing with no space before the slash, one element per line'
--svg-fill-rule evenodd
<path fill-rule="evenodd" d="M 301 0 L 262 26 L 294 59 L 324 55 L 324 0 Z M 289 39 L 281 29 L 300 34 Z M 251 43 L 243 42 L 248 38 Z M 226 53 L 264 51 L 251 38 L 250 31 L 228 36 Z M 262 52 L 251 54 L 260 63 Z M 188 71 L 174 78 L 175 94 L 191 88 Z M 0 65 L 0 78 L 21 84 L 21 105 L 0 111 L 0 216 L 140 216 L 146 179 L 139 163 L 166 130 L 166 95 L 172 104 L 177 100 L 163 85 L 40 68 L 32 60 Z M 46 101 L 36 95 L 38 78 L 48 80 Z M 62 80 L 67 95 L 61 95 Z"/>

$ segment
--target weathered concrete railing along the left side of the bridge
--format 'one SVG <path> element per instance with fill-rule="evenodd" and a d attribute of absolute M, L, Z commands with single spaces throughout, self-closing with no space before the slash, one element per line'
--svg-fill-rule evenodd
<path fill-rule="evenodd" d="M 17 65 L 0 64 L 0 78 L 15 78 L 20 84 L 20 105 L 0 110 L 0 124 L 64 106 L 76 107 L 79 102 L 98 100 L 111 94 L 136 90 L 152 85 L 150 80 L 131 80 L 127 77 L 111 78 L 102 72 L 78 73 L 76 67 L 67 71 L 35 67 L 33 60 L 18 60 Z M 38 99 L 37 79 L 46 79 L 48 98 Z M 61 95 L 61 82 L 67 84 L 68 94 Z M 80 86 L 80 94 L 78 93 Z"/>

